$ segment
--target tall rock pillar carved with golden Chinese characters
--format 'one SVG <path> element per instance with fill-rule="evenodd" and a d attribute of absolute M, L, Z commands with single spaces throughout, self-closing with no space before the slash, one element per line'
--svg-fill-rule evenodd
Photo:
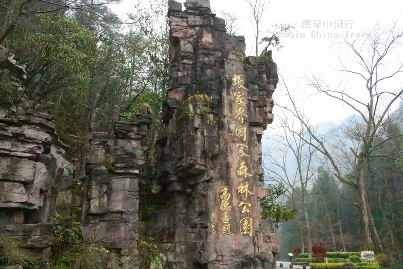
<path fill-rule="evenodd" d="M 153 230 L 170 268 L 272 268 L 277 238 L 260 219 L 261 138 L 278 82 L 271 52 L 245 57 L 208 0 L 169 1 L 172 75 L 157 141 Z"/>

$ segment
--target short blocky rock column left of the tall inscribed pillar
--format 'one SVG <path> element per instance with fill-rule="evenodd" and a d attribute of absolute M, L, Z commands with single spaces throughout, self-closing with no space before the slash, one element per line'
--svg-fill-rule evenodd
<path fill-rule="evenodd" d="M 106 133 L 95 133 L 90 141 L 83 236 L 118 254 L 120 264 L 104 261 L 103 268 L 137 268 L 139 175 L 145 167 L 148 146 L 144 138 L 151 121 L 135 115 L 115 124 L 112 139 Z"/>

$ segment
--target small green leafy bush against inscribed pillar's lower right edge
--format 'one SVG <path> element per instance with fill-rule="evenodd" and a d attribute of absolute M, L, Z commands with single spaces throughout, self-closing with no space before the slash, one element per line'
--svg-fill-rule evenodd
<path fill-rule="evenodd" d="M 270 193 L 261 201 L 262 218 L 271 218 L 276 227 L 279 223 L 294 219 L 297 209 L 290 208 L 280 199 L 287 189 L 283 182 L 277 184 L 268 184 Z"/>

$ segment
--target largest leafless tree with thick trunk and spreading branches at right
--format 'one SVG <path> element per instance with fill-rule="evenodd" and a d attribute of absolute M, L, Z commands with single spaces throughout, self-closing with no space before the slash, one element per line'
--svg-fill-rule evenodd
<path fill-rule="evenodd" d="M 368 248 L 375 247 L 377 251 L 382 251 L 367 201 L 368 168 L 373 158 L 393 158 L 389 154 L 378 154 L 377 149 L 393 139 L 388 136 L 385 126 L 394 120 L 389 116 L 403 94 L 401 80 L 395 80 L 401 79 L 403 71 L 399 55 L 399 50 L 403 47 L 403 32 L 397 29 L 396 23 L 388 31 L 380 31 L 379 28 L 377 30 L 376 34 L 366 35 L 365 39 L 350 41 L 346 37 L 338 43 L 338 66 L 333 66 L 333 69 L 357 77 L 361 81 L 361 88 L 354 90 L 357 92 L 361 89 L 361 96 L 357 97 L 355 92 L 348 91 L 347 82 L 333 87 L 314 75 L 305 78 L 308 86 L 316 89 L 318 93 L 339 101 L 354 111 L 348 128 L 344 130 L 346 136 L 359 145 L 349 148 L 354 156 L 354 176 L 345 176 L 331 148 L 315 133 L 315 128 L 297 107 L 292 95 L 289 95 L 292 106 L 288 111 L 305 127 L 312 140 L 304 136 L 299 137 L 329 160 L 339 181 L 357 188 L 360 196 L 360 204 L 357 206 L 362 212 L 364 223 L 364 242 Z M 397 81 L 397 85 L 387 85 L 386 81 Z M 286 90 L 290 94 L 287 86 Z M 299 135 L 298 132 L 295 134 Z"/>

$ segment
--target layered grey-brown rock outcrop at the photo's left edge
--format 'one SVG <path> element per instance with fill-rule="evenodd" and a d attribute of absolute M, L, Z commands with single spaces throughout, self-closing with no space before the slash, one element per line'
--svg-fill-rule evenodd
<path fill-rule="evenodd" d="M 29 110 L 0 118 L 0 234 L 45 258 L 54 242 L 55 178 L 72 179 L 52 116 Z"/>

